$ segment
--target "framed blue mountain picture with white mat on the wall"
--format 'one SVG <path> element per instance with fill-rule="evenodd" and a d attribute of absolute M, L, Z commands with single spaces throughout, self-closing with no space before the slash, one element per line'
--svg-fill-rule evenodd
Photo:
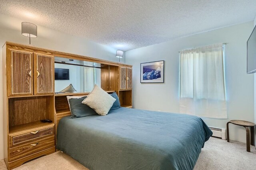
<path fill-rule="evenodd" d="M 163 83 L 164 82 L 164 61 L 153 61 L 140 63 L 141 83 Z"/>

